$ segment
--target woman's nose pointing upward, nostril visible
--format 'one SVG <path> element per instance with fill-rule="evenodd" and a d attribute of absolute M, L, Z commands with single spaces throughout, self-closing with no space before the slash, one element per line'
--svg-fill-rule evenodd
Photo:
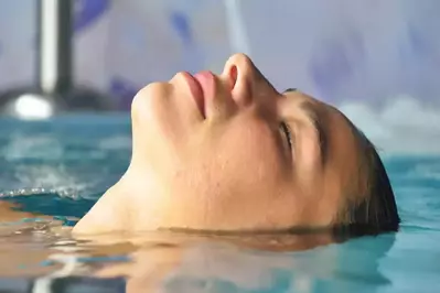
<path fill-rule="evenodd" d="M 227 59 L 222 75 L 229 80 L 233 99 L 238 106 L 247 106 L 253 100 L 264 101 L 267 97 L 278 95 L 273 86 L 246 54 L 232 55 Z"/>

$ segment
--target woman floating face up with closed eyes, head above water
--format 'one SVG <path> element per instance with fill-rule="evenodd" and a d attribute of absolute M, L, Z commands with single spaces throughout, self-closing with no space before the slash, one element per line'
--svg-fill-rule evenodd
<path fill-rule="evenodd" d="M 372 143 L 335 108 L 278 93 L 244 54 L 133 99 L 132 159 L 74 234 L 397 230 Z"/>

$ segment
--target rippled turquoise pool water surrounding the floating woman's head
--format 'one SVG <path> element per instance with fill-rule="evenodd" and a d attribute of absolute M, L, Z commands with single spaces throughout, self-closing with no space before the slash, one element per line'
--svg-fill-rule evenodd
<path fill-rule="evenodd" d="M 397 234 L 281 252 L 170 234 L 87 241 L 69 229 L 127 169 L 128 116 L 0 124 L 0 292 L 440 292 L 440 158 L 384 156 Z"/>

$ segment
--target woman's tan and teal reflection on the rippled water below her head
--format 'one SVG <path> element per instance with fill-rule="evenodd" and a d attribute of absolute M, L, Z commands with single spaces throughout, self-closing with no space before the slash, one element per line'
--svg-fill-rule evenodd
<path fill-rule="evenodd" d="M 73 239 L 62 220 L 17 213 L 28 220 L 0 226 L 0 290 L 18 276 L 34 285 L 58 282 L 60 287 L 100 290 L 105 283 L 89 278 L 106 278 L 115 282 L 112 290 L 124 286 L 127 292 L 372 292 L 390 283 L 378 262 L 394 235 L 342 245 L 318 234 L 221 237 L 161 231 Z"/>

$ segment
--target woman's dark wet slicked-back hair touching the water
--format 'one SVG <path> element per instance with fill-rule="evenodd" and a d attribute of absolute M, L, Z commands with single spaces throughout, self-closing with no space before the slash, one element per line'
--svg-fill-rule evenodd
<path fill-rule="evenodd" d="M 397 231 L 400 218 L 386 169 L 374 144 L 353 126 L 359 137 L 359 175 L 365 180 L 362 198 L 344 207 L 344 224 L 335 228 L 336 235 L 356 237 Z"/>

